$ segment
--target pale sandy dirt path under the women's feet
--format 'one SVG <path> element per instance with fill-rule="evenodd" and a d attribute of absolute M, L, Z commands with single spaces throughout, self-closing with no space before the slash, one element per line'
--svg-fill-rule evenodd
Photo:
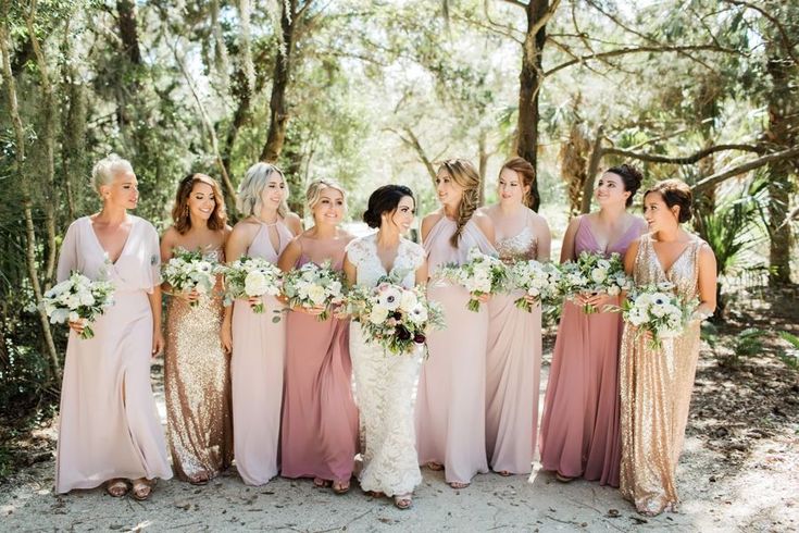
<path fill-rule="evenodd" d="M 703 362 L 706 370 L 709 365 Z M 544 368 L 544 377 L 548 365 Z M 696 394 L 711 394 L 702 384 Z M 542 386 L 544 389 L 544 386 Z M 160 386 L 159 386 L 160 392 Z M 698 405 L 706 406 L 704 401 Z M 159 395 L 159 402 L 163 397 Z M 161 405 L 161 407 L 163 407 Z M 706 406 L 707 407 L 707 406 Z M 704 409 L 706 407 L 701 407 Z M 52 459 L 4 484 L 2 531 L 797 531 L 799 435 L 771 431 L 745 457 L 703 433 L 692 416 L 678 470 L 684 504 L 677 513 L 638 516 L 617 491 L 596 483 L 561 484 L 547 472 L 478 475 L 452 491 L 440 472 L 424 471 L 414 507 L 395 509 L 357 487 L 336 496 L 310 481 L 277 479 L 248 487 L 235 475 L 195 487 L 160 482 L 151 500 L 113 499 L 100 489 L 54 496 Z M 717 444 L 717 441 L 715 442 Z"/>

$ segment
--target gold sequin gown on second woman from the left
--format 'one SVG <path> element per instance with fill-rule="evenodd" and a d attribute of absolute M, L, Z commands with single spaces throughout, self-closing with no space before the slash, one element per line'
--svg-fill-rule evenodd
<path fill-rule="evenodd" d="M 221 249 L 209 259 L 222 260 Z M 172 468 L 184 481 L 209 478 L 233 461 L 230 368 L 222 349 L 221 280 L 195 306 L 170 298 L 166 307 L 164 396 Z"/>

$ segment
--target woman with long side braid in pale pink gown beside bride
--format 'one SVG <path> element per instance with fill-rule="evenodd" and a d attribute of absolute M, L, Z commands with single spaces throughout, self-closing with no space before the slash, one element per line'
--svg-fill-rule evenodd
<path fill-rule="evenodd" d="M 464 263 L 469 250 L 494 249 L 494 223 L 477 209 L 480 176 L 463 159 L 445 161 L 436 174 L 441 208 L 422 221 L 430 273 L 444 263 Z M 452 488 L 465 488 L 486 461 L 486 343 L 488 311 L 466 309 L 469 293 L 432 280 L 428 297 L 444 308 L 447 327 L 427 336 L 429 359 L 422 368 L 416 399 L 420 463 L 445 469 Z M 487 301 L 484 298 L 484 301 Z"/>

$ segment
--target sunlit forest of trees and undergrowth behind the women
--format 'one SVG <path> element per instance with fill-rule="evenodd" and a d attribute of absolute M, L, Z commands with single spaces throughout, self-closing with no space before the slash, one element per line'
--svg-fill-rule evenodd
<path fill-rule="evenodd" d="M 385 183 L 435 209 L 447 157 L 478 165 L 490 202 L 519 154 L 555 238 L 603 168 L 679 177 L 719 258 L 703 357 L 734 386 L 760 376 L 751 406 L 783 402 L 756 425 L 797 432 L 797 0 L 0 0 L 0 479 L 51 456 L 30 435 L 66 337 L 38 302 L 109 152 L 161 230 L 189 172 L 223 184 L 235 222 L 257 161 L 300 214 L 310 179 L 339 179 L 357 220 Z"/>

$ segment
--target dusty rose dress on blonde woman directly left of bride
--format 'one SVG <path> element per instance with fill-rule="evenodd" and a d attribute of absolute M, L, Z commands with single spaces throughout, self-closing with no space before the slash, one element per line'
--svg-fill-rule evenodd
<path fill-rule="evenodd" d="M 310 261 L 313 240 L 299 237 Z M 346 244 L 346 243 L 345 243 Z M 329 259 L 341 270 L 345 248 Z M 349 481 L 358 453 L 358 408 L 352 398 L 350 322 L 320 322 L 303 312 L 287 320 L 283 397 L 282 472 L 285 478 Z"/>

